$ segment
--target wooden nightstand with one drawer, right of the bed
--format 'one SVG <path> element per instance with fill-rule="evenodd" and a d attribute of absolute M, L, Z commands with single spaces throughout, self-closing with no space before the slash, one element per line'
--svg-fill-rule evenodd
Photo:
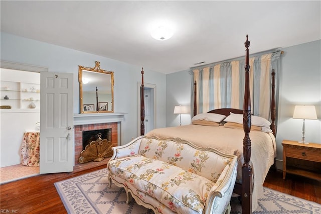
<path fill-rule="evenodd" d="M 321 180 L 321 144 L 282 141 L 283 179 L 286 173 Z"/>

